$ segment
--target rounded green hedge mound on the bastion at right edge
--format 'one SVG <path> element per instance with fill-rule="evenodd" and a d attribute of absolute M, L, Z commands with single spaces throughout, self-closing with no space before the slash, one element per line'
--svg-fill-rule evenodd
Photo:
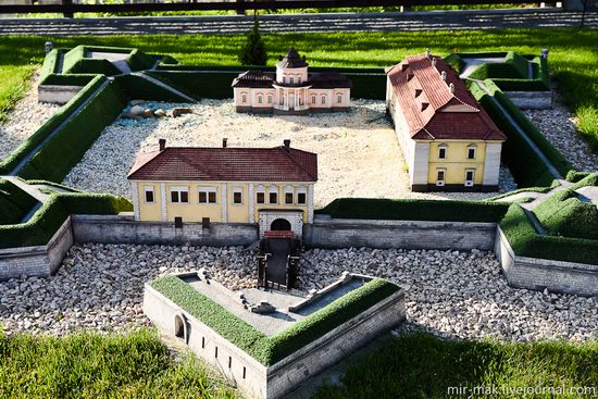
<path fill-rule="evenodd" d="M 551 236 L 598 240 L 598 208 L 581 201 L 571 189 L 551 195 L 533 212 Z"/>

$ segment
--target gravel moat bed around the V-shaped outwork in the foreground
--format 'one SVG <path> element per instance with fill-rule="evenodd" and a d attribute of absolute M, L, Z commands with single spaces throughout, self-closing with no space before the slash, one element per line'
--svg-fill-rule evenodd
<path fill-rule="evenodd" d="M 74 246 L 55 276 L 0 283 L 0 325 L 9 334 L 53 335 L 149 326 L 141 312 L 144 282 L 207 266 L 215 279 L 239 289 L 252 284 L 254 265 L 240 248 Z M 509 288 L 491 253 L 316 249 L 304 252 L 299 284 L 322 287 L 342 271 L 398 283 L 407 291 L 410 326 L 441 336 L 598 338 L 598 298 Z"/>

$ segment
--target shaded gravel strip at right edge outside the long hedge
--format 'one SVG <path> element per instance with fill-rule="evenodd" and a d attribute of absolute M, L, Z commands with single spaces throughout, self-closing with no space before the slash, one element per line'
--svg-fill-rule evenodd
<path fill-rule="evenodd" d="M 524 110 L 523 113 L 578 171 L 598 171 L 598 153 L 577 133 L 575 116 L 555 101 L 549 110 Z"/>

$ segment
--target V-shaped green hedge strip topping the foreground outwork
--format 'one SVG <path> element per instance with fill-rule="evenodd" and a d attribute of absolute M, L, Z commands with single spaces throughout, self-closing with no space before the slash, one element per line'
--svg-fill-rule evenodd
<path fill-rule="evenodd" d="M 399 290 L 375 278 L 269 337 L 176 276 L 159 277 L 150 286 L 264 365 L 285 359 Z"/>

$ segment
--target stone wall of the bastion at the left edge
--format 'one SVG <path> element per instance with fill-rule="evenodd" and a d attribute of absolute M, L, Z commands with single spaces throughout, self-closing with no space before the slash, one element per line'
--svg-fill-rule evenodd
<path fill-rule="evenodd" d="M 0 280 L 27 276 L 47 277 L 55 273 L 73 245 L 71 217 L 66 219 L 46 246 L 0 249 Z"/>

